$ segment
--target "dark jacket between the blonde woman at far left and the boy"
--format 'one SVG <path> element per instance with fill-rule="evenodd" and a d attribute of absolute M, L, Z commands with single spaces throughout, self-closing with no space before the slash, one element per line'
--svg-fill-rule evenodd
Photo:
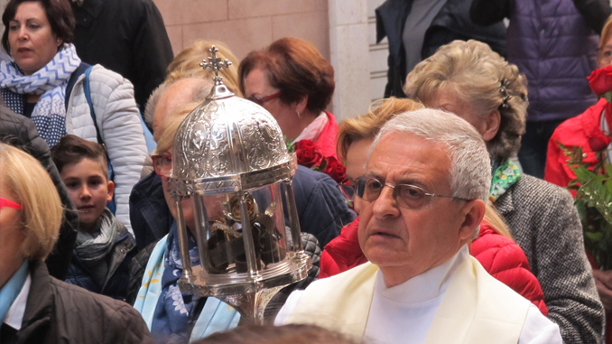
<path fill-rule="evenodd" d="M 38 135 L 36 126 L 29 118 L 16 115 L 2 106 L 0 106 L 0 141 L 17 146 L 38 159 L 51 175 L 51 180 L 60 193 L 64 218 L 61 222 L 60 237 L 53 252 L 47 258 L 47 267 L 51 276 L 63 280 L 66 277 L 72 249 L 77 239 L 76 228 L 79 227 L 79 213 L 74 208 L 68 191 L 60 179 L 60 173 L 51 161 L 49 146 Z"/>

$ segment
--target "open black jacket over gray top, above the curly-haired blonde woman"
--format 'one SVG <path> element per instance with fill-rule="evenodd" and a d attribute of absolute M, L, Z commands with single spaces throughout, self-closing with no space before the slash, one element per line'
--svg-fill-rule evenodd
<path fill-rule="evenodd" d="M 482 27 L 469 18 L 471 0 L 448 0 L 436 14 L 425 33 L 422 46 L 422 60 L 435 53 L 440 46 L 455 40 L 477 40 L 486 42 L 502 56 L 505 56 L 505 26 L 496 23 Z M 406 58 L 403 52 L 403 26 L 410 14 L 413 0 L 386 0 L 376 8 L 376 42 L 385 36 L 389 41 L 389 71 L 385 87 L 386 97 L 404 98 L 403 84 L 406 75 Z"/>

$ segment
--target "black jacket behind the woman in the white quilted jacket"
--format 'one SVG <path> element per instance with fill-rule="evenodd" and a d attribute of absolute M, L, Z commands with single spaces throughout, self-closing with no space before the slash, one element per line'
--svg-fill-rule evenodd
<path fill-rule="evenodd" d="M 85 0 L 72 9 L 79 58 L 130 80 L 144 112 L 146 100 L 165 79 L 174 57 L 157 6 L 152 0 Z"/>

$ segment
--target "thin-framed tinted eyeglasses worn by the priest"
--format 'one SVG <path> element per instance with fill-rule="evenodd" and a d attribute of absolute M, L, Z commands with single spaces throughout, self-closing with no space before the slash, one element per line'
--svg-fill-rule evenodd
<path fill-rule="evenodd" d="M 448 199 L 467 200 L 455 196 L 445 196 L 428 193 L 422 190 L 422 188 L 411 184 L 398 184 L 395 186 L 385 184 L 384 182 L 378 181 L 376 178 L 372 177 L 357 178 L 356 193 L 360 199 L 366 200 L 368 202 L 373 202 L 378 199 L 378 196 L 380 196 L 380 193 L 383 191 L 383 188 L 385 188 L 385 186 L 388 186 L 389 188 L 394 190 L 393 197 L 394 200 L 397 201 L 397 205 L 407 209 L 422 208 L 428 200 L 428 197 L 443 197 Z"/>

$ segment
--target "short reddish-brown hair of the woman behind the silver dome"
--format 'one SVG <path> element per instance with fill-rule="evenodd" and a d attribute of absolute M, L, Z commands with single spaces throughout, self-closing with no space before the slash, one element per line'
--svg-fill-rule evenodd
<path fill-rule="evenodd" d="M 297 38 L 284 37 L 264 51 L 251 51 L 246 55 L 238 69 L 243 94 L 246 76 L 257 68 L 266 70 L 268 82 L 280 90 L 284 104 L 308 96 L 306 108 L 317 115 L 329 105 L 336 88 L 333 67 L 314 45 Z"/>

